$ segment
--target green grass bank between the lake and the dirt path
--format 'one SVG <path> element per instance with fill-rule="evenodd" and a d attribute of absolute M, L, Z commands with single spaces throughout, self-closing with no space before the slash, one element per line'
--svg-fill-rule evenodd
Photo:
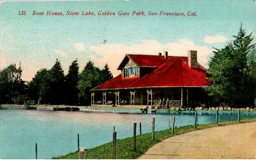
<path fill-rule="evenodd" d="M 194 126 L 184 126 L 184 127 L 175 127 L 174 135 L 171 134 L 171 130 L 163 130 L 155 132 L 155 140 L 153 141 L 151 138 L 151 133 L 146 133 L 137 136 L 137 151 L 134 152 L 133 150 L 133 137 L 117 140 L 116 142 L 116 158 L 117 159 L 136 159 L 144 152 L 146 152 L 150 147 L 154 144 L 163 141 L 166 138 L 180 135 L 183 133 L 211 128 L 211 127 L 218 127 L 218 126 L 226 126 L 238 123 L 246 123 L 246 122 L 254 122 L 256 119 L 248 119 L 248 120 L 241 120 L 238 121 L 227 121 L 227 122 L 220 122 L 217 124 L 203 124 L 198 125 L 195 129 Z M 118 132 L 117 132 L 118 134 Z M 98 147 L 87 149 L 86 150 L 86 159 L 112 159 L 112 147 L 113 143 L 109 142 Z M 69 153 L 65 156 L 58 156 L 52 157 L 52 159 L 78 159 L 79 152 L 76 151 L 74 153 Z"/>

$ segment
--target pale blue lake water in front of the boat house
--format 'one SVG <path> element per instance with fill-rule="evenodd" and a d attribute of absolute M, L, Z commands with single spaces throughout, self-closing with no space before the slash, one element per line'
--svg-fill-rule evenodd
<path fill-rule="evenodd" d="M 87 109 L 92 110 L 95 109 Z M 0 110 L 0 158 L 35 159 L 35 143 L 38 159 L 65 155 L 77 150 L 77 134 L 80 137 L 80 147 L 93 148 L 112 141 L 114 126 L 117 139 L 123 139 L 133 136 L 134 122 L 137 122 L 137 134 L 140 122 L 142 133 L 149 133 L 153 117 L 156 117 L 156 131 L 168 129 L 169 120 L 173 117 L 173 113 L 144 114 L 132 109 L 97 111 Z M 214 123 L 215 114 L 199 112 L 198 123 Z M 241 119 L 255 117 L 255 113 L 241 113 Z M 194 118 L 193 112 L 176 113 L 175 126 L 193 125 Z M 220 112 L 220 120 L 237 120 L 237 112 Z"/>

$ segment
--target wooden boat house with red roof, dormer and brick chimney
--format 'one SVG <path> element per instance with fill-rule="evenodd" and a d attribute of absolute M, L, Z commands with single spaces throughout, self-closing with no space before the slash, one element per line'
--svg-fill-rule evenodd
<path fill-rule="evenodd" d="M 203 87 L 206 69 L 197 62 L 197 51 L 188 57 L 164 55 L 125 55 L 117 68 L 121 74 L 90 91 L 91 105 L 159 106 L 169 98 L 169 106 L 196 107 L 207 104 Z"/>

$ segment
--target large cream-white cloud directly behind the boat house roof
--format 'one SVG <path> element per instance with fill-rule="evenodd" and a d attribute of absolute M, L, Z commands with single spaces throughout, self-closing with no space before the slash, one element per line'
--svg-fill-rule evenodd
<path fill-rule="evenodd" d="M 168 55 L 188 56 L 188 50 L 197 50 L 198 62 L 207 67 L 208 60 L 206 58 L 212 53 L 209 48 L 198 46 L 189 40 L 178 40 L 177 42 L 170 42 L 165 45 L 156 40 L 145 40 L 141 41 L 140 44 L 132 46 L 106 43 L 99 46 L 92 46 L 89 50 L 101 55 L 100 58 L 91 55 L 92 61 L 97 66 L 101 65 L 100 67 L 108 63 L 109 69 L 114 76 L 120 74 L 120 71 L 116 69 L 126 54 L 157 55 L 158 52 L 163 53 L 166 50 L 168 51 Z"/>

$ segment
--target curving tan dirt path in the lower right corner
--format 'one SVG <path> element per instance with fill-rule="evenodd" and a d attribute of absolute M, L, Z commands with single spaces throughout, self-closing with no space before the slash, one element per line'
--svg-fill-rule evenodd
<path fill-rule="evenodd" d="M 255 159 L 256 122 L 197 130 L 168 138 L 139 159 Z"/>

